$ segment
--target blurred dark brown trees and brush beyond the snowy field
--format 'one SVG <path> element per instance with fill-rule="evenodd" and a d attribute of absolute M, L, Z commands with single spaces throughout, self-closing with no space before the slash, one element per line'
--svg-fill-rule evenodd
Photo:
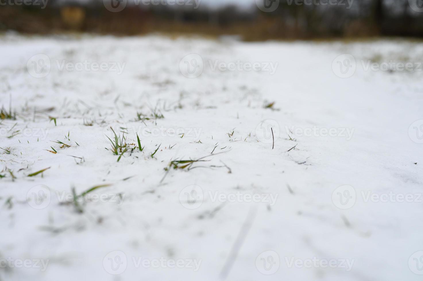
<path fill-rule="evenodd" d="M 2 1 L 0 31 L 19 33 L 160 32 L 239 35 L 246 41 L 423 36 L 423 12 L 410 7 L 412 0 L 353 0 L 349 9 L 346 5 L 294 5 L 289 0 L 280 0 L 278 8 L 270 13 L 261 11 L 254 3 L 249 7 L 201 3 L 197 9 L 186 5 L 128 3 L 123 11 L 111 12 L 99 0 L 85 3 L 48 0 L 43 9 L 39 5 L 16 5 L 14 0 Z M 341 1 L 346 4 L 346 0 L 338 0 Z"/>

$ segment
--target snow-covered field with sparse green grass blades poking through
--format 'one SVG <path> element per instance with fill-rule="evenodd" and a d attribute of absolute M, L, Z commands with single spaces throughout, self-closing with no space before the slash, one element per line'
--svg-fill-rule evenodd
<path fill-rule="evenodd" d="M 0 280 L 421 280 L 421 43 L 0 41 Z"/>

